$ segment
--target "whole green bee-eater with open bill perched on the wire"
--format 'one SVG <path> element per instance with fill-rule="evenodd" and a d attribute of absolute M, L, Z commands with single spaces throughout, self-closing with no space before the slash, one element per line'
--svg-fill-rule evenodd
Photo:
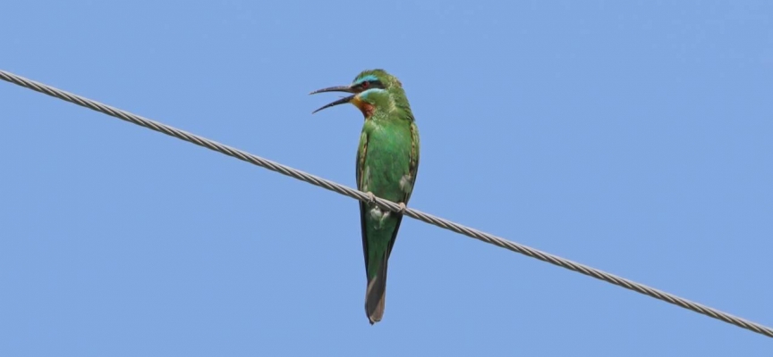
<path fill-rule="evenodd" d="M 411 199 L 419 170 L 419 129 L 403 84 L 384 70 L 362 71 L 350 85 L 326 87 L 310 94 L 345 92 L 319 112 L 339 104 L 353 104 L 364 117 L 357 146 L 357 188 L 370 195 L 360 202 L 362 252 L 368 285 L 365 313 L 370 325 L 384 316 L 387 298 L 387 263 L 395 245 L 406 204 Z M 312 114 L 314 113 L 312 112 Z M 391 212 L 373 203 L 378 196 L 395 203 L 401 212 Z"/>

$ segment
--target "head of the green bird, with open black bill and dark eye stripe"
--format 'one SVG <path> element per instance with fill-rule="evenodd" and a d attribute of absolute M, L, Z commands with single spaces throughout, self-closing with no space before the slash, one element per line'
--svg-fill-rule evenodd
<path fill-rule="evenodd" d="M 322 92 L 345 92 L 353 93 L 353 95 L 345 96 L 314 112 L 319 112 L 338 104 L 351 103 L 360 109 L 365 118 L 370 118 L 378 110 L 394 108 L 395 98 L 404 98 L 405 96 L 400 80 L 384 70 L 362 71 L 350 85 L 322 88 L 310 94 Z"/>

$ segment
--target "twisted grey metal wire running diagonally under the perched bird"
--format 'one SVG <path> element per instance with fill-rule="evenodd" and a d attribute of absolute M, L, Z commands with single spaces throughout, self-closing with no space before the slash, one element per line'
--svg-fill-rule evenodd
<path fill-rule="evenodd" d="M 81 105 L 83 107 L 89 108 L 97 112 L 105 113 L 107 115 L 113 116 L 121 120 L 129 121 L 133 124 L 137 124 L 148 129 L 159 131 L 170 137 L 176 137 L 196 145 L 204 146 L 210 150 L 217 151 L 218 153 L 226 154 L 228 156 L 235 157 L 239 160 L 250 162 L 254 165 L 258 165 L 264 169 L 279 172 L 293 179 L 300 179 L 312 185 L 327 188 L 328 190 L 334 191 L 341 195 L 346 195 L 363 202 L 371 202 L 372 200 L 372 202 L 378 204 L 378 206 L 380 206 L 383 209 L 387 209 L 392 212 L 403 212 L 404 215 L 411 217 L 413 219 L 421 220 L 423 222 L 435 225 L 440 228 L 446 228 L 456 233 L 463 234 L 464 236 L 473 237 L 475 239 L 481 240 L 488 244 L 497 245 L 499 247 L 511 250 L 515 253 L 522 253 L 524 255 L 528 255 L 531 258 L 539 259 L 542 262 L 549 262 L 551 264 L 557 265 L 559 267 L 562 267 L 568 270 L 577 271 L 587 276 L 606 281 L 607 283 L 615 284 L 616 286 L 623 286 L 624 288 L 633 290 L 637 293 L 648 295 L 650 297 L 654 297 L 658 300 L 662 300 L 667 303 L 673 303 L 676 306 L 682 307 L 684 309 L 692 310 L 692 311 L 701 313 L 703 315 L 712 317 L 714 319 L 725 321 L 727 323 L 733 324 L 740 328 L 746 328 L 748 330 L 751 330 L 753 332 L 756 332 L 764 336 L 773 337 L 773 328 L 768 328 L 756 322 L 744 320 L 739 317 L 735 317 L 729 313 L 718 311 L 717 309 L 711 308 L 706 305 L 702 305 L 701 303 L 693 303 L 692 301 L 689 301 L 687 299 L 681 298 L 676 295 L 668 294 L 664 291 L 660 291 L 650 286 L 645 286 L 637 282 L 634 282 L 632 280 L 621 278 L 614 274 L 610 274 L 602 270 L 590 268 L 589 266 L 580 264 L 578 262 L 572 262 L 550 253 L 541 252 L 537 249 L 528 247 L 526 245 L 520 245 L 500 237 L 492 236 L 488 233 L 481 232 L 480 230 L 477 230 L 477 229 L 464 227 L 461 224 L 457 224 L 457 223 L 454 223 L 453 221 L 445 220 L 445 219 L 433 216 L 429 213 L 420 212 L 412 208 L 405 208 L 403 210 L 403 208 L 397 203 L 393 203 L 391 201 L 387 201 L 378 197 L 371 197 L 370 195 L 364 192 L 361 192 L 359 190 L 355 190 L 350 187 L 345 187 L 343 185 L 337 184 L 336 182 L 319 178 L 317 176 L 311 175 L 301 170 L 296 170 L 291 167 L 285 166 L 281 163 L 272 162 L 262 157 L 245 153 L 242 150 L 235 149 L 234 147 L 223 145 L 215 141 L 209 140 L 205 137 L 199 137 L 197 135 L 185 132 L 180 129 L 172 128 L 165 124 L 161 124 L 157 121 L 149 120 L 149 119 L 140 117 L 139 115 L 132 114 L 131 112 L 124 112 L 112 106 L 95 102 L 88 98 L 84 98 L 80 95 L 73 95 L 72 93 L 68 93 L 63 90 L 57 89 L 55 87 L 50 87 L 30 79 L 25 79 L 23 77 L 17 76 L 7 71 L 0 70 L 0 79 L 19 85 L 21 87 L 30 88 L 34 91 L 37 91 L 46 95 L 54 96 L 55 98 L 59 98 L 73 104 Z"/>

